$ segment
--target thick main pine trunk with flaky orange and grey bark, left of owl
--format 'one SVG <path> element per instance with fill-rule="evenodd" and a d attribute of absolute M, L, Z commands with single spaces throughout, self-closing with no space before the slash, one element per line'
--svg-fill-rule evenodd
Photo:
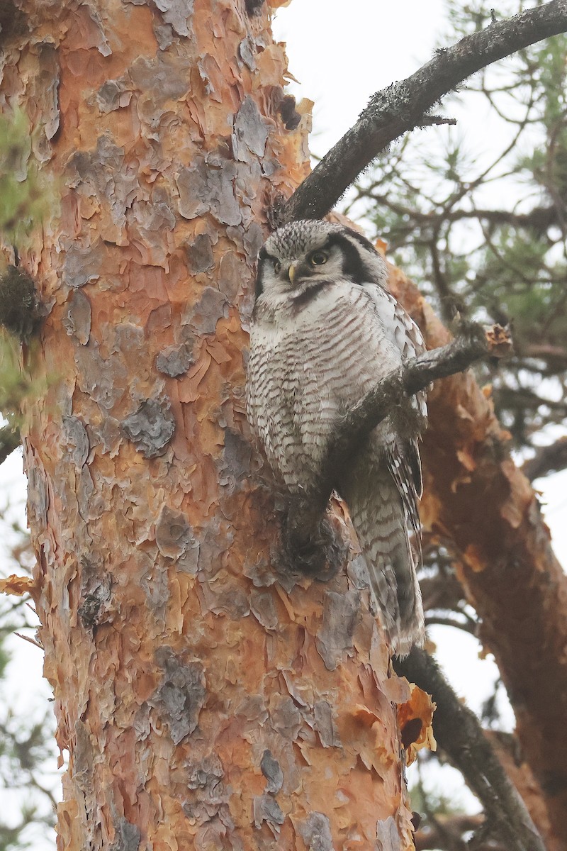
<path fill-rule="evenodd" d="M 410 689 L 358 562 L 292 576 L 250 479 L 241 323 L 308 170 L 268 12 L 19 5 L 2 94 L 61 193 L 20 250 L 49 309 L 22 432 L 59 848 L 411 848 Z"/>

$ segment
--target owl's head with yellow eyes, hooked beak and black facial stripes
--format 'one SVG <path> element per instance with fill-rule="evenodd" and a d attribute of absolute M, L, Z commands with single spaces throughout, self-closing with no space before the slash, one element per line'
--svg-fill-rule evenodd
<path fill-rule="evenodd" d="M 345 279 L 384 287 L 387 277 L 383 258 L 360 233 L 327 221 L 293 221 L 275 231 L 260 250 L 256 298 Z"/>

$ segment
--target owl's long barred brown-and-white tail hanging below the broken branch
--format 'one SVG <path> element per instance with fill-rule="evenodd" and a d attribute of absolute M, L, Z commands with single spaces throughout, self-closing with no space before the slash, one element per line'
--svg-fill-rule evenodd
<path fill-rule="evenodd" d="M 405 507 L 386 466 L 376 475 L 369 476 L 366 470 L 366 475 L 351 481 L 353 486 L 343 488 L 343 497 L 366 560 L 371 591 L 395 654 L 405 656 L 425 640 Z"/>

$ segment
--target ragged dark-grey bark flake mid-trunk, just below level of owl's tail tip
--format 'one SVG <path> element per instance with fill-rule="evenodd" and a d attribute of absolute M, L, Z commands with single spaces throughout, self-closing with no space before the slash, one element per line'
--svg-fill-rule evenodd
<path fill-rule="evenodd" d="M 169 647 L 159 648 L 156 662 L 164 669 L 162 683 L 148 700 L 169 727 L 174 745 L 196 729 L 207 700 L 205 671 L 201 662 L 184 664 Z"/>

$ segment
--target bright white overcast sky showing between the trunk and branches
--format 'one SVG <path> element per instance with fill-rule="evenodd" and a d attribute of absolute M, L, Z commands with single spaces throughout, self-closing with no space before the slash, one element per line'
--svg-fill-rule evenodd
<path fill-rule="evenodd" d="M 444 5 L 441 0 L 293 0 L 275 14 L 274 30 L 276 37 L 287 43 L 289 69 L 299 81 L 289 90 L 298 99 L 315 101 L 311 150 L 321 155 L 354 123 L 371 94 L 409 76 L 430 58 L 445 31 Z M 477 119 L 478 115 L 476 119 L 471 115 L 468 121 L 467 110 L 463 111 L 459 132 L 465 139 L 479 138 L 483 120 Z M 485 126 L 480 132 L 486 139 Z M 565 562 L 567 471 L 550 477 L 542 488 L 555 549 Z M 7 492 L 12 501 L 24 502 L 20 453 L 14 453 L 0 468 L 0 494 Z M 0 563 L 0 574 L 10 572 L 8 564 Z M 451 683 L 478 710 L 496 679 L 496 665 L 490 659 L 479 660 L 478 646 L 471 637 L 456 631 L 449 634 L 444 627 L 434 628 L 432 636 Z M 50 689 L 42 680 L 41 653 L 16 637 L 10 647 L 14 651 L 7 683 L 10 700 L 15 700 L 16 711 L 22 715 L 43 711 Z M 509 716 L 508 722 L 512 723 Z M 449 782 L 452 794 L 458 780 L 451 775 Z M 460 794 L 467 799 L 466 792 Z M 6 817 L 8 802 L 3 803 Z M 48 848 L 54 848 L 54 837 L 31 842 L 31 851 Z"/>

